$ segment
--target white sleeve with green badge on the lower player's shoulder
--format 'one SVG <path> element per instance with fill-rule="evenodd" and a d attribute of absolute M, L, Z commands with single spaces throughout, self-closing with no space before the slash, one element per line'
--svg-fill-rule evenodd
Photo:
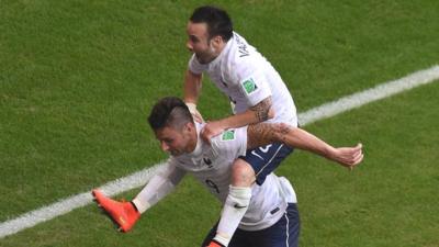
<path fill-rule="evenodd" d="M 212 147 L 217 155 L 236 159 L 246 155 L 247 150 L 247 126 L 239 128 L 229 128 L 212 141 Z"/>

